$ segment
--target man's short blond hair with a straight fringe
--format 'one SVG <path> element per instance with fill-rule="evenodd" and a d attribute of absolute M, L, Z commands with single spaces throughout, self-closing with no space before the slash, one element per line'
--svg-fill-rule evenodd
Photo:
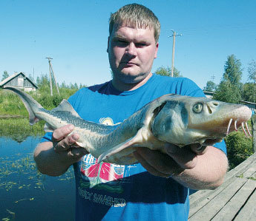
<path fill-rule="evenodd" d="M 113 31 L 114 24 L 131 25 L 143 29 L 153 28 L 154 39 L 156 43 L 158 42 L 160 35 L 160 21 L 151 10 L 141 4 L 127 4 L 115 13 L 111 13 L 111 18 L 109 19 L 109 35 L 111 35 Z"/>

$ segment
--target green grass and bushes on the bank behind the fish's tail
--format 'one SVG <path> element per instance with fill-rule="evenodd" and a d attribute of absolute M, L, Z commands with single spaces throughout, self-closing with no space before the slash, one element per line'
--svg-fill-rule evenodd
<path fill-rule="evenodd" d="M 50 96 L 50 84 L 47 75 L 37 78 L 36 82 L 39 89 L 36 92 L 30 92 L 30 95 L 45 109 L 55 108 L 63 99 L 68 99 L 70 95 L 73 95 L 79 89 L 77 84 L 67 86 L 62 83 L 59 86 L 60 95 L 57 94 L 56 88 L 53 87 L 53 96 Z M 21 98 L 13 92 L 0 89 L 0 136 L 10 137 L 13 140 L 22 142 L 30 135 L 44 135 L 44 124 L 41 120 L 39 123 L 30 126 L 28 112 Z"/>

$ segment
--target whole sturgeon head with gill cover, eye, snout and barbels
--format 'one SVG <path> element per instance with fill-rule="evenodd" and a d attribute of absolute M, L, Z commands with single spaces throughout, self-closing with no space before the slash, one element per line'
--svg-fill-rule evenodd
<path fill-rule="evenodd" d="M 178 146 L 212 145 L 243 126 L 251 116 L 252 111 L 244 105 L 177 96 L 166 100 L 151 128 L 159 140 Z"/>

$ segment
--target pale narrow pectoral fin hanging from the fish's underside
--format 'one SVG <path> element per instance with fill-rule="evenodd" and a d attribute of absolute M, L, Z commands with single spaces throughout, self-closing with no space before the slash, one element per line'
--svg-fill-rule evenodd
<path fill-rule="evenodd" d="M 141 129 L 137 132 L 137 134 L 134 137 L 129 138 L 128 140 L 125 140 L 125 142 L 120 143 L 117 146 L 114 146 L 113 148 L 109 149 L 108 152 L 105 152 L 98 157 L 98 163 L 102 162 L 103 160 L 108 159 L 108 157 L 111 157 L 114 154 L 117 154 L 118 152 L 121 152 L 123 149 L 132 147 L 132 146 L 139 146 L 139 144 L 142 143 L 142 133 Z M 142 144 L 140 144 L 141 146 Z"/>

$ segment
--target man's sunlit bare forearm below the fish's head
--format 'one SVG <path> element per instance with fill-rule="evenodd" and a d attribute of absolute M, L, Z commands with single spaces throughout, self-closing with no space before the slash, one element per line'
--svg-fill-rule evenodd
<path fill-rule="evenodd" d="M 229 167 L 226 157 L 220 149 L 213 146 L 197 156 L 197 165 L 193 169 L 185 169 L 181 174 L 174 175 L 174 180 L 193 189 L 214 189 L 223 183 Z"/>

